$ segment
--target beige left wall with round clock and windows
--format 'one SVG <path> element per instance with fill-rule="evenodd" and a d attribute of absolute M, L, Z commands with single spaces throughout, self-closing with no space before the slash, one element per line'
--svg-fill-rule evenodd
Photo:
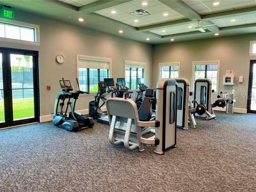
<path fill-rule="evenodd" d="M 0 42 L 0 47 L 39 51 L 40 111 L 53 113 L 55 96 L 60 91 L 58 80 L 70 79 L 76 90 L 76 55 L 90 55 L 112 59 L 112 77 L 124 77 L 124 60 L 146 62 L 146 83 L 151 84 L 152 45 L 120 38 L 34 14 L 16 11 L 17 20 L 40 26 L 40 46 Z M 62 65 L 56 63 L 57 54 L 65 57 Z M 46 90 L 51 85 L 51 90 Z M 88 109 L 93 95 L 80 97 L 77 110 Z M 46 116 L 48 119 L 51 117 Z M 50 120 L 49 119 L 49 120 Z"/>

